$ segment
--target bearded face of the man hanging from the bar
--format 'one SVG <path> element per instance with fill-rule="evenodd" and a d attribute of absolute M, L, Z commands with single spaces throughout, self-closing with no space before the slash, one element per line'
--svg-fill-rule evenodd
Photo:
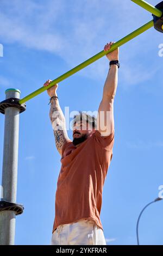
<path fill-rule="evenodd" d="M 78 145 L 84 142 L 93 132 L 94 129 L 91 124 L 85 120 L 77 121 L 73 126 L 73 144 Z"/>

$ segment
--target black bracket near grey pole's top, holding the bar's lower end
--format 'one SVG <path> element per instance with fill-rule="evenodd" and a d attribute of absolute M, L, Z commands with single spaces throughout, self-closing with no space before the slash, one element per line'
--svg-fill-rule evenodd
<path fill-rule="evenodd" d="M 18 108 L 20 109 L 20 113 L 22 113 L 23 111 L 26 110 L 26 104 L 23 103 L 23 104 L 20 104 L 18 101 L 20 99 L 17 99 L 17 98 L 14 98 L 14 97 L 11 97 L 7 100 L 3 100 L 0 102 L 0 113 L 2 114 L 5 114 L 5 109 L 8 108 L 8 107 L 15 107 L 15 108 Z"/>

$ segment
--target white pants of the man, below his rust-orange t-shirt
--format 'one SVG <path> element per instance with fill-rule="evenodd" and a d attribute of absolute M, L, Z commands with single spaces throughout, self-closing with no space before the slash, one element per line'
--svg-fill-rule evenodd
<path fill-rule="evenodd" d="M 59 225 L 53 232 L 51 245 L 106 245 L 106 241 L 95 222 L 82 219 Z"/>

